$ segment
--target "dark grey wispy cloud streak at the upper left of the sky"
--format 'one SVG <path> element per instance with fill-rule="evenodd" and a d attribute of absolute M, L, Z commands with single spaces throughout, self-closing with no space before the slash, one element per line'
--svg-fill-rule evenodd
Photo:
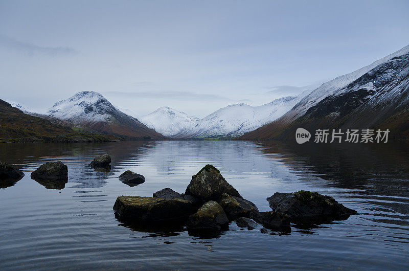
<path fill-rule="evenodd" d="M 43 54 L 49 56 L 57 55 L 73 55 L 78 53 L 75 49 L 70 47 L 41 47 L 29 42 L 23 42 L 6 35 L 0 34 L 0 46 L 18 50 L 27 55 Z"/>

